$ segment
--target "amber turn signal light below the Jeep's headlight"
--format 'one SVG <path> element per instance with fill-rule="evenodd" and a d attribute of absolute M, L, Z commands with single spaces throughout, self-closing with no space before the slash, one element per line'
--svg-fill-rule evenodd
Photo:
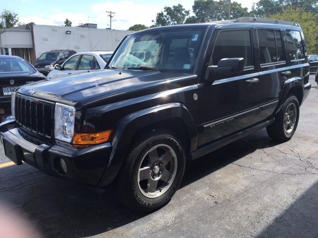
<path fill-rule="evenodd" d="M 106 130 L 98 133 L 76 133 L 74 145 L 97 145 L 109 141 L 113 130 Z"/>

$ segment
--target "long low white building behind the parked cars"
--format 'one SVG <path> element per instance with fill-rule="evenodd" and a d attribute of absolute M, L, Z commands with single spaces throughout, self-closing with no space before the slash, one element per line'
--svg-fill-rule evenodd
<path fill-rule="evenodd" d="M 4 29 L 0 31 L 0 54 L 20 56 L 32 63 L 51 50 L 114 51 L 121 40 L 133 32 L 87 28 L 90 25 L 65 27 L 29 23 Z"/>

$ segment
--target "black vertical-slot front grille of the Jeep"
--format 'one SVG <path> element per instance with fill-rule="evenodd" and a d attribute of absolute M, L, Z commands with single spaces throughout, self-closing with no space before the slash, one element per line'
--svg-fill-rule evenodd
<path fill-rule="evenodd" d="M 54 104 L 23 95 L 15 95 L 15 120 L 27 130 L 52 138 Z"/>

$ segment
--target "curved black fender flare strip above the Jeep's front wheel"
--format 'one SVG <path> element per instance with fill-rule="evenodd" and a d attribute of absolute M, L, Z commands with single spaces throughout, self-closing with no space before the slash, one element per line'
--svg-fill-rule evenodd
<path fill-rule="evenodd" d="M 105 169 L 98 186 L 109 184 L 111 182 L 109 181 L 110 177 L 114 178 L 114 176 L 106 175 L 108 174 L 107 170 L 110 169 L 112 173 L 118 173 L 127 156 L 128 150 L 130 149 L 131 141 L 137 131 L 169 119 L 180 119 L 183 121 L 186 132 L 190 138 L 190 152 L 196 150 L 198 145 L 198 132 L 190 112 L 183 104 L 169 103 L 129 114 L 121 119 L 116 126 L 111 141 L 113 149 L 110 154 L 107 168 Z M 117 171 L 113 171 L 111 168 L 116 168 Z"/>

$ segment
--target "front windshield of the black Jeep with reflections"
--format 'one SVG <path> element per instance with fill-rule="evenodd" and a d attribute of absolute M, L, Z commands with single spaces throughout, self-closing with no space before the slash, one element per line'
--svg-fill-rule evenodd
<path fill-rule="evenodd" d="M 141 32 L 128 36 L 108 66 L 191 72 L 206 28 Z"/>

